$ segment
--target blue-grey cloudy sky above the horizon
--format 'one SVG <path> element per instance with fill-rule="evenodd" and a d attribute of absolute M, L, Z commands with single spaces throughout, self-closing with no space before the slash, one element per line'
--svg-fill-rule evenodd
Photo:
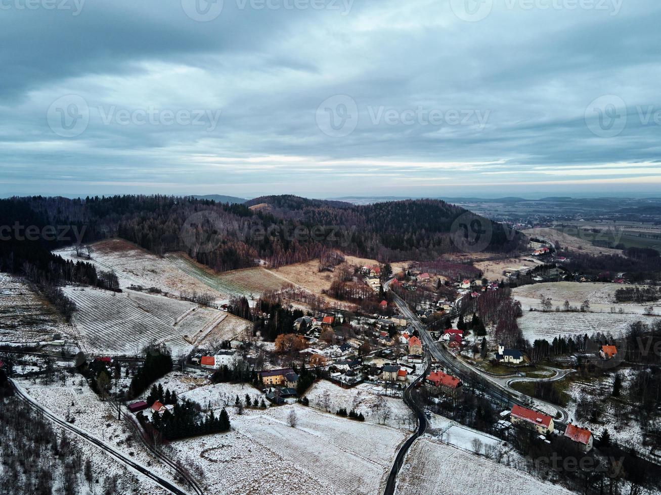
<path fill-rule="evenodd" d="M 661 191 L 658 0 L 0 0 L 0 196 Z"/>

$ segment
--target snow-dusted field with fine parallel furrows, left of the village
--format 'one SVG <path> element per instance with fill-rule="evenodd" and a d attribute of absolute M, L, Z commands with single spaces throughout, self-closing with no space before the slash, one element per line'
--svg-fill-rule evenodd
<path fill-rule="evenodd" d="M 73 327 L 83 350 L 98 354 L 134 354 L 155 341 L 187 352 L 184 335 L 195 335 L 219 322 L 223 312 L 196 304 L 127 290 L 122 293 L 67 286 L 78 311 Z"/>

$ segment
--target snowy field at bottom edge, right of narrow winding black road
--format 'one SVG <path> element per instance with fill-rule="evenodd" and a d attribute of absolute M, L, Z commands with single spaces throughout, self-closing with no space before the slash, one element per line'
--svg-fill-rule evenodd
<path fill-rule="evenodd" d="M 422 437 L 408 451 L 395 493 L 570 495 L 572 492 L 484 457 Z"/>

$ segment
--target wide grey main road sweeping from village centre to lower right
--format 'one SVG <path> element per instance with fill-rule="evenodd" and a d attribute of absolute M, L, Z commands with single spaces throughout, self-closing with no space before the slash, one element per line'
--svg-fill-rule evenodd
<path fill-rule="evenodd" d="M 387 288 L 392 281 L 389 280 L 386 282 L 385 287 Z M 540 401 L 539 399 L 534 399 L 523 393 L 520 393 L 514 389 L 511 389 L 507 383 L 501 384 L 498 383 L 497 379 L 494 379 L 492 376 L 481 372 L 481 370 L 475 370 L 475 368 L 465 364 L 460 359 L 457 359 L 451 352 L 449 352 L 443 345 L 434 341 L 430 333 L 427 331 L 426 327 L 420 322 L 416 314 L 410 310 L 408 304 L 404 302 L 395 292 L 390 291 L 393 295 L 393 300 L 397 307 L 405 317 L 411 322 L 411 325 L 420 333 L 420 339 L 424 343 L 426 349 L 430 354 L 436 359 L 446 370 L 459 378 L 463 383 L 471 385 L 476 389 L 480 389 L 485 395 L 487 395 L 494 403 L 500 404 L 506 409 L 512 408 L 514 405 L 520 405 L 523 407 L 528 407 L 527 402 L 533 401 L 537 403 L 543 403 L 549 407 L 553 407 L 557 411 L 556 418 L 554 421 L 556 424 L 566 424 L 569 413 L 563 408 L 555 404 L 547 403 L 545 401 Z M 457 306 L 459 301 L 457 301 Z"/>

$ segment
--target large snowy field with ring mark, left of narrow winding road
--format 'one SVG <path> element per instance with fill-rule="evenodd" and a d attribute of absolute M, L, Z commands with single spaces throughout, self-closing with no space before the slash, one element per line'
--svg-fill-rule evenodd
<path fill-rule="evenodd" d="M 407 438 L 394 428 L 300 405 L 247 409 L 241 416 L 233 409 L 231 432 L 172 444 L 182 458 L 200 465 L 209 493 L 375 494 Z M 292 410 L 295 428 L 287 420 Z"/>

